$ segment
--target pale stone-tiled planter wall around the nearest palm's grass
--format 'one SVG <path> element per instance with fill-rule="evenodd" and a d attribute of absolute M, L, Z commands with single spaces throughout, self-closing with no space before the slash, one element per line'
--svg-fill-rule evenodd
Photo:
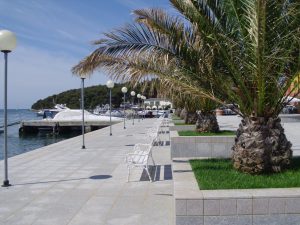
<path fill-rule="evenodd" d="M 176 225 L 300 224 L 300 188 L 199 190 L 186 159 L 172 167 Z"/>

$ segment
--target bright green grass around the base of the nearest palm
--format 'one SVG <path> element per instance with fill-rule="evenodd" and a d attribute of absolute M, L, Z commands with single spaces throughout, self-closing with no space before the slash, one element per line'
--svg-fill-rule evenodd
<path fill-rule="evenodd" d="M 300 157 L 282 173 L 250 175 L 233 169 L 230 159 L 190 160 L 201 190 L 300 187 Z"/>

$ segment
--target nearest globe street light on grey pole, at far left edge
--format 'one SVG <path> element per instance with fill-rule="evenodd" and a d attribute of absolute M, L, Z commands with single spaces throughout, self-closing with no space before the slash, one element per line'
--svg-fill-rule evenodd
<path fill-rule="evenodd" d="M 17 38 L 14 33 L 0 30 L 0 51 L 4 53 L 4 181 L 2 187 L 10 186 L 7 164 L 7 55 L 16 45 Z"/>

